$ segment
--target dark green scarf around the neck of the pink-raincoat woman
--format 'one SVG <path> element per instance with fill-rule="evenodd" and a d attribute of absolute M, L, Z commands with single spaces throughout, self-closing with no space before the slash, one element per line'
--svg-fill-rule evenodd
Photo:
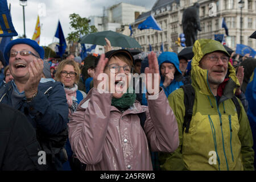
<path fill-rule="evenodd" d="M 134 104 L 135 100 L 136 100 L 136 94 L 134 92 L 133 93 L 126 92 L 125 94 L 122 95 L 121 98 L 113 97 L 111 101 L 111 105 L 117 108 L 127 109 L 128 107 Z"/>

